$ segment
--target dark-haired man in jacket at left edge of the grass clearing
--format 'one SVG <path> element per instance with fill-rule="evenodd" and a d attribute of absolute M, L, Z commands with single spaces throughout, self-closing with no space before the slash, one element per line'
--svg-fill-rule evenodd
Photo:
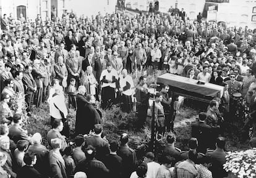
<path fill-rule="evenodd" d="M 28 136 L 27 131 L 22 129 L 20 124 L 22 123 L 22 116 L 20 114 L 15 114 L 13 116 L 14 124 L 9 127 L 9 137 L 17 143 L 19 140 L 28 140 L 31 143 L 31 138 Z"/>

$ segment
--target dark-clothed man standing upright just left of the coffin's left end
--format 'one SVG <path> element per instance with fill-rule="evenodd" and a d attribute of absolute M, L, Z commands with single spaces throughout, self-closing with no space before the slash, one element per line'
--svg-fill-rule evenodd
<path fill-rule="evenodd" d="M 137 108 L 137 128 L 142 129 L 146 119 L 148 111 L 148 89 L 147 89 L 147 78 L 140 76 L 140 83 L 135 89 L 136 97 L 136 108 Z"/>

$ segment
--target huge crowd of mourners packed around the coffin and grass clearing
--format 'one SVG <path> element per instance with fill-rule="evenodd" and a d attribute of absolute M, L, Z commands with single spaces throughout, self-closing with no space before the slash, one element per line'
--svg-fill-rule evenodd
<path fill-rule="evenodd" d="M 0 40 L 0 174 L 225 177 L 225 141 L 218 136 L 223 131 L 223 119 L 233 116 L 237 98 L 244 98 L 250 106 L 249 122 L 256 129 L 256 29 L 202 22 L 202 18 L 192 22 L 186 19 L 184 9 L 182 13 L 171 12 L 135 17 L 99 12 L 92 18 L 76 17 L 71 12 L 46 20 L 40 15 L 25 20 L 22 15 L 15 19 L 4 14 Z M 122 111 L 130 112 L 135 103 L 135 126 L 142 129 L 150 94 L 147 77 L 139 76 L 136 84 L 133 75 L 147 69 L 224 86 L 223 97 L 213 99 L 206 113 L 200 113 L 192 124 L 188 152 L 182 154 L 174 147 L 175 136 L 167 136 L 161 166 L 154 162 L 153 153 L 147 153 L 144 163 L 138 164 L 134 150 L 127 145 L 127 134 L 122 134 L 121 144 L 106 140 L 98 125 L 101 112 L 95 105 L 98 101 L 107 109 L 119 104 Z M 33 105 L 41 107 L 48 102 L 52 126 L 47 135 L 49 147 L 41 145 L 40 134 L 29 137 L 21 126 L 22 116 L 9 107 L 17 93 L 25 95 L 28 116 Z M 177 97 L 172 97 L 165 85 L 155 95 L 152 110 L 161 136 L 174 132 L 178 104 Z M 74 149 L 66 142 L 68 108 L 76 110 Z M 91 131 L 94 135 L 85 139 L 83 136 Z M 214 140 L 216 150 L 207 151 L 215 148 Z"/>

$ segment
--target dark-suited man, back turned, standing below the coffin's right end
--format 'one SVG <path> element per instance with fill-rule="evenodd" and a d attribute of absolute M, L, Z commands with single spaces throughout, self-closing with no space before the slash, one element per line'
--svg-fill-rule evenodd
<path fill-rule="evenodd" d="M 208 148 L 208 139 L 211 132 L 211 127 L 205 123 L 207 118 L 206 113 L 199 113 L 199 120 L 191 124 L 191 135 L 198 140 L 198 152 L 205 153 Z"/>

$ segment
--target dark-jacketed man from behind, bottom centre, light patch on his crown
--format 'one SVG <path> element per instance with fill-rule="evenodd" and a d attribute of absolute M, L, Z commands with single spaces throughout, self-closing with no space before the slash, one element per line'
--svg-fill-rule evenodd
<path fill-rule="evenodd" d="M 128 146 L 129 137 L 126 133 L 121 135 L 120 142 L 117 155 L 122 158 L 122 177 L 129 178 L 137 166 L 137 157 L 135 151 Z"/>

